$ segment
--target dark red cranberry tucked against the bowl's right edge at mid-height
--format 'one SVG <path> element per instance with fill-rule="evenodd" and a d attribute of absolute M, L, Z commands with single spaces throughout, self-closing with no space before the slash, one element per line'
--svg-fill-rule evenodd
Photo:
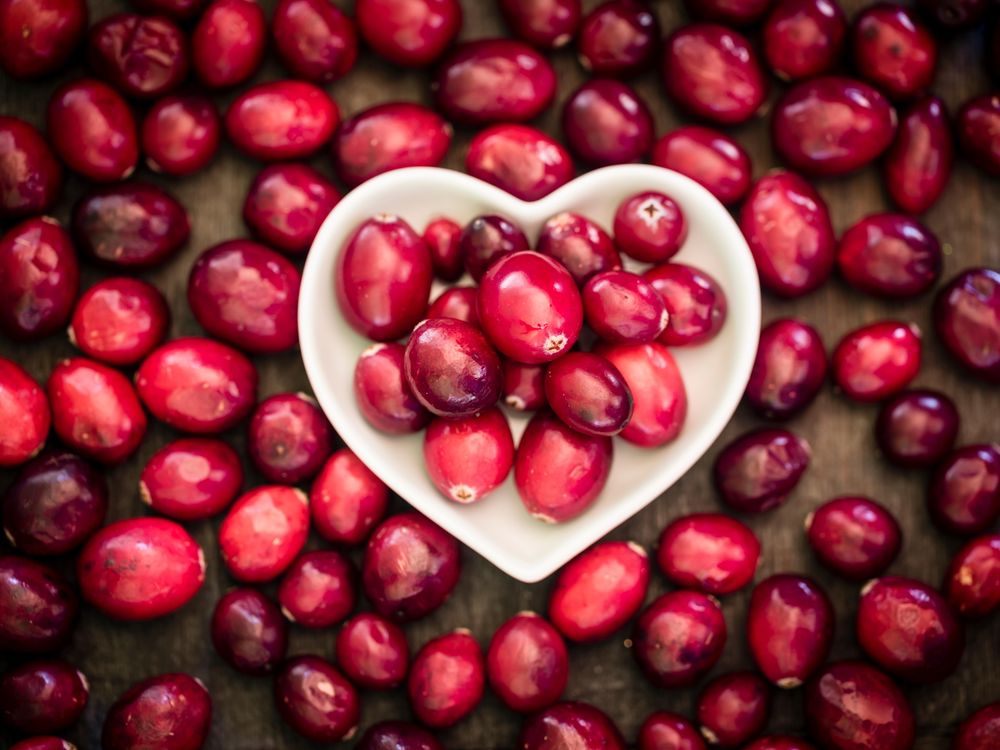
<path fill-rule="evenodd" d="M 826 379 L 826 349 L 815 328 L 793 318 L 760 332 L 746 400 L 760 414 L 787 419 L 804 409 Z"/>

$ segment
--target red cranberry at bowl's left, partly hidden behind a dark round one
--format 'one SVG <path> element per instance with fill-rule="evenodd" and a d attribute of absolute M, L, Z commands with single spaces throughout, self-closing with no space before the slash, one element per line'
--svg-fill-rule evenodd
<path fill-rule="evenodd" d="M 393 434 L 417 432 L 431 413 L 417 401 L 403 373 L 402 344 L 373 344 L 361 352 L 354 368 L 354 398 L 376 429 Z"/>

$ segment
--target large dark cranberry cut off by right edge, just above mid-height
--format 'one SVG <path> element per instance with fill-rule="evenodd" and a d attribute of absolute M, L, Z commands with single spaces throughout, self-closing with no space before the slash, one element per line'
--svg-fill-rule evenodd
<path fill-rule="evenodd" d="M 970 268 L 934 302 L 934 327 L 952 356 L 990 382 L 1000 382 L 1000 272 Z"/>

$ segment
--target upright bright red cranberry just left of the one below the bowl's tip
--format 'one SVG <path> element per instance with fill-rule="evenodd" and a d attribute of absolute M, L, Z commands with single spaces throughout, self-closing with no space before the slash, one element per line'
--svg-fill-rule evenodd
<path fill-rule="evenodd" d="M 469 631 L 428 641 L 414 658 L 407 680 L 413 712 L 436 729 L 458 723 L 482 700 L 485 672 L 483 653 Z"/>

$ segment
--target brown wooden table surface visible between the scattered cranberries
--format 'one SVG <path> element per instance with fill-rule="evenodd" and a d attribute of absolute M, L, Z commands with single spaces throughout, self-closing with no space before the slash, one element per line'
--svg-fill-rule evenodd
<path fill-rule="evenodd" d="M 272 2 L 264 3 L 270 11 Z M 347 7 L 350 3 L 338 1 Z M 476 39 L 503 34 L 503 26 L 490 0 L 464 0 L 466 10 L 462 38 Z M 586 2 L 592 7 L 596 2 Z M 843 0 L 849 12 L 863 3 Z M 663 27 L 669 30 L 683 22 L 680 0 L 654 3 Z M 121 0 L 91 0 L 92 19 L 125 9 Z M 989 83 L 980 65 L 982 35 L 961 35 L 948 42 L 942 53 L 936 90 L 954 111 L 971 95 L 986 91 Z M 559 75 L 558 99 L 561 103 L 584 79 L 582 69 L 571 51 L 552 56 Z M 0 113 L 13 114 L 42 126 L 49 92 L 61 80 L 79 74 L 79 68 L 64 79 L 24 85 L 0 77 Z M 282 72 L 269 59 L 263 78 L 275 78 Z M 345 115 L 379 102 L 427 100 L 427 74 L 400 71 L 375 59 L 370 53 L 361 56 L 358 66 L 331 92 Z M 656 118 L 657 134 L 680 124 L 678 114 L 666 101 L 658 76 L 649 73 L 636 81 Z M 780 86 L 772 89 L 771 101 Z M 228 101 L 232 94 L 222 99 Z M 220 102 L 222 104 L 224 102 Z M 536 123 L 557 134 L 559 103 Z M 754 174 L 760 175 L 776 164 L 767 137 L 763 115 L 750 123 L 733 128 L 753 156 Z M 460 130 L 448 155 L 447 166 L 461 169 L 471 131 Z M 329 173 L 325 157 L 315 160 Z M 138 177 L 164 185 L 173 191 L 191 212 L 193 232 L 182 254 L 166 266 L 145 275 L 170 299 L 174 315 L 171 334 L 199 333 L 185 301 L 188 270 L 210 245 L 246 235 L 240 209 L 247 186 L 260 165 L 223 147 L 220 157 L 204 172 L 183 180 L 163 179 L 140 169 Z M 73 200 L 84 185 L 71 178 L 56 215 L 65 220 Z M 827 199 L 838 233 L 869 213 L 887 208 L 879 176 L 875 169 L 838 180 L 823 181 L 819 189 Z M 391 208 L 391 207 L 389 207 Z M 951 182 L 939 203 L 926 215 L 927 224 L 937 232 L 945 248 L 944 278 L 959 270 L 978 265 L 1000 267 L 1000 181 L 990 180 L 965 161 L 959 161 Z M 85 269 L 84 287 L 98 276 Z M 907 303 L 886 303 L 864 296 L 832 280 L 819 291 L 794 301 L 766 297 L 764 320 L 782 316 L 800 316 L 815 325 L 827 346 L 832 346 L 845 331 L 885 317 L 916 321 L 925 332 L 925 360 L 916 385 L 930 386 L 952 396 L 961 411 L 963 422 L 960 443 L 1000 439 L 1000 400 L 991 388 L 961 373 L 932 332 L 929 315 L 931 295 Z M 0 341 L 0 355 L 22 362 L 38 379 L 48 376 L 53 364 L 73 352 L 62 336 L 43 342 L 14 345 Z M 258 358 L 261 372 L 261 397 L 281 391 L 308 390 L 305 373 L 297 352 L 283 356 Z M 789 426 L 804 435 L 814 449 L 813 464 L 792 499 L 782 508 L 749 519 L 763 542 L 758 580 L 779 571 L 800 571 L 814 576 L 829 592 L 836 605 L 837 638 L 833 658 L 858 656 L 853 636 L 853 618 L 858 586 L 837 579 L 812 559 L 802 532 L 805 515 L 820 503 L 839 494 L 869 495 L 885 504 L 899 518 L 905 533 L 902 554 L 892 566 L 893 573 L 912 576 L 938 585 L 950 556 L 961 540 L 944 537 L 930 524 L 924 507 L 925 472 L 903 471 L 880 460 L 872 437 L 877 408 L 854 404 L 826 387 L 805 414 Z M 717 444 L 690 472 L 642 513 L 611 534 L 615 539 L 634 539 L 651 549 L 657 534 L 673 518 L 693 511 L 718 511 L 719 501 L 710 480 L 712 460 L 720 446 L 760 421 L 741 407 Z M 163 425 L 151 423 L 149 434 L 132 460 L 109 472 L 111 511 L 109 520 L 145 513 L 136 492 L 137 476 L 144 462 L 174 434 Z M 228 435 L 242 445 L 243 434 Z M 249 467 L 248 467 L 249 468 Z M 6 472 L 0 486 L 11 478 Z M 250 474 L 248 481 L 255 481 Z M 396 499 L 396 508 L 404 504 Z M 180 612 L 145 624 L 125 624 L 108 620 L 85 609 L 71 647 L 65 656 L 79 665 L 90 680 L 90 703 L 81 722 L 66 737 L 81 748 L 100 745 L 100 729 L 111 702 L 132 682 L 149 675 L 185 671 L 197 675 L 208 685 L 214 703 L 211 738 L 212 750 L 277 750 L 308 748 L 311 745 L 284 727 L 278 719 L 267 679 L 240 676 L 219 659 L 208 639 L 208 622 L 215 601 L 232 585 L 216 552 L 215 532 L 218 521 L 194 524 L 191 530 L 208 552 L 208 575 L 197 597 Z M 311 544 L 316 546 L 313 539 Z M 67 571 L 71 561 L 59 561 Z M 407 626 L 411 647 L 415 650 L 426 640 L 457 626 L 472 630 L 480 643 L 508 617 L 522 609 L 544 611 L 551 581 L 524 585 L 495 569 L 475 554 L 465 551 L 461 582 L 451 599 L 440 610 L 420 622 Z M 649 600 L 667 588 L 662 577 L 653 576 Z M 723 602 L 730 635 L 725 654 L 713 674 L 752 666 L 747 651 L 742 622 L 749 592 L 726 597 Z M 625 736 L 633 741 L 642 720 L 654 710 L 669 709 L 690 716 L 696 690 L 661 690 L 651 687 L 640 676 L 624 641 L 623 631 L 608 642 L 585 647 L 571 647 L 571 676 L 566 697 L 590 701 L 607 711 Z M 293 628 L 290 653 L 317 653 L 331 657 L 334 631 L 308 632 Z M 918 722 L 919 748 L 944 748 L 956 724 L 974 709 L 1000 699 L 1000 622 L 997 617 L 968 628 L 968 645 L 958 671 L 944 682 L 907 688 Z M 362 695 L 362 725 L 386 718 L 406 718 L 409 710 L 399 693 Z M 442 733 L 445 745 L 453 750 L 499 750 L 514 746 L 520 719 L 487 695 L 479 709 L 457 727 Z M 801 691 L 782 691 L 776 696 L 769 724 L 771 732 L 799 733 L 803 728 Z M 0 736 L 0 740 L 2 740 Z M 9 738 L 8 738 L 9 739 Z M 0 744 L 3 744 L 0 741 Z"/>

